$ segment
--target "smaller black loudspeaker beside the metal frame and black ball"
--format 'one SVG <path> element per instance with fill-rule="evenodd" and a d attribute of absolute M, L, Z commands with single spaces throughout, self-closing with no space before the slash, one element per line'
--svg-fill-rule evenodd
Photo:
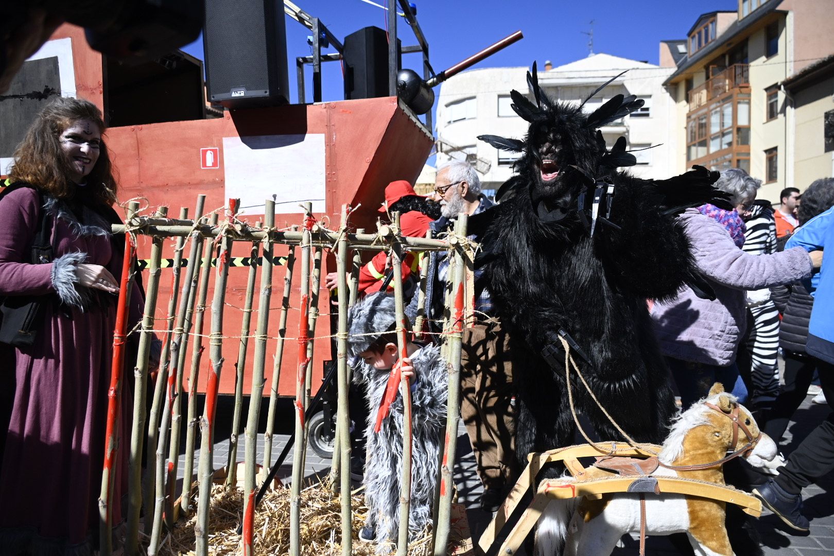
<path fill-rule="evenodd" d="M 388 33 L 366 27 L 344 38 L 344 98 L 388 97 Z M 397 67 L 402 65 L 402 44 L 397 40 Z"/>

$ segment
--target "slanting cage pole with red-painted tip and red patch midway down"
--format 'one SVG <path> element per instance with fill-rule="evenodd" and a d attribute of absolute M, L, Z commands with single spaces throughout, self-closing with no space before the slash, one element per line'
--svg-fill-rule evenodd
<path fill-rule="evenodd" d="M 203 418 L 200 419 L 200 464 L 199 500 L 197 523 L 194 526 L 197 556 L 208 556 L 208 513 L 211 509 L 211 485 L 214 474 L 214 411 L 223 371 L 223 309 L 226 295 L 226 279 L 229 277 L 229 259 L 232 255 L 232 239 L 229 234 L 230 221 L 238 212 L 240 199 L 229 199 L 229 220 L 224 226 L 225 233 L 220 239 L 220 253 L 217 258 L 217 277 L 214 279 L 214 298 L 211 303 L 211 336 L 209 339 L 208 383 Z"/>

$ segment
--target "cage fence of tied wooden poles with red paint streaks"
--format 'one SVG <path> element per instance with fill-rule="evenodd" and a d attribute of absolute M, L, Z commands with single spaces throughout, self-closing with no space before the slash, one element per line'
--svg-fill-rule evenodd
<path fill-rule="evenodd" d="M 434 547 L 435 554 L 446 553 L 450 541 L 451 502 L 453 493 L 452 468 L 455 462 L 455 442 L 459 414 L 460 380 L 460 342 L 463 328 L 472 312 L 472 292 L 467 275 L 471 275 L 472 244 L 466 238 L 466 218 L 457 220 L 455 231 L 441 238 L 409 238 L 399 232 L 399 215 L 394 213 L 393 223 L 378 224 L 376 233 L 364 233 L 359 229 L 351 232 L 349 216 L 351 210 L 344 206 L 341 222 L 337 230 L 330 230 L 324 223 L 317 221 L 309 203 L 302 206 L 304 219 L 302 225 L 291 228 L 276 229 L 274 203 L 265 204 L 264 223 L 249 225 L 239 218 L 237 199 L 230 199 L 222 221 L 219 211 L 203 214 L 204 196 L 198 197 L 193 219 L 188 219 L 188 210 L 182 209 L 179 218 L 167 218 L 168 208 L 159 207 L 153 216 L 142 216 L 138 204 L 131 203 L 125 224 L 113 225 L 113 233 L 124 233 L 125 267 L 122 277 L 122 289 L 118 302 L 118 321 L 114 336 L 113 377 L 109 394 L 107 447 L 104 460 L 102 493 L 99 498 L 101 520 L 101 553 L 108 556 L 113 552 L 113 475 L 116 447 L 128 441 L 120 437 L 118 423 L 128 418 L 119 415 L 121 395 L 121 369 L 123 368 L 123 346 L 129 333 L 138 334 L 138 357 L 134 365 L 135 388 L 133 393 L 133 414 L 130 419 L 131 436 L 129 438 L 128 459 L 128 518 L 125 528 L 124 551 L 133 555 L 140 553 L 147 543 L 146 553 L 163 553 L 163 544 L 173 528 L 183 526 L 188 521 L 189 513 L 196 509 L 195 516 L 188 521 L 193 523 L 193 547 L 198 556 L 208 556 L 214 552 L 210 543 L 214 542 L 212 530 L 213 500 L 219 499 L 213 494 L 213 484 L 218 469 L 214 465 L 214 427 L 219 390 L 219 379 L 224 367 L 224 341 L 237 341 L 239 344 L 235 380 L 235 405 L 233 428 L 229 438 L 229 458 L 222 488 L 237 491 L 238 440 L 244 407 L 243 378 L 250 373 L 252 388 L 249 396 L 249 414 L 245 427 L 244 443 L 244 488 L 240 499 L 243 507 L 238 514 L 242 516 L 237 543 L 239 553 L 244 556 L 256 553 L 255 514 L 258 512 L 256 492 L 259 488 L 258 464 L 256 461 L 256 442 L 259 433 L 261 399 L 264 387 L 269 385 L 269 413 L 264 436 L 264 470 L 272 461 L 272 446 L 276 410 L 279 397 L 278 383 L 281 364 L 284 361 L 284 345 L 287 340 L 298 343 L 298 360 L 296 362 L 294 419 L 295 438 L 293 453 L 293 473 L 288 490 L 289 501 L 289 553 L 304 553 L 302 546 L 301 521 L 304 504 L 304 453 L 309 433 L 305 422 L 305 411 L 309 408 L 312 362 L 317 339 L 335 339 L 336 347 L 336 392 L 337 416 L 334 438 L 334 456 L 331 469 L 332 488 L 339 493 L 340 526 L 332 523 L 332 536 L 338 537 L 341 553 L 352 553 L 351 538 L 356 531 L 355 492 L 350 483 L 350 442 L 348 388 L 351 369 L 348 364 L 348 311 L 358 297 L 358 274 L 361 267 L 361 254 L 364 252 L 387 251 L 393 259 L 394 272 L 392 286 L 396 308 L 396 333 L 400 357 L 404 357 L 408 334 L 416 333 L 422 339 L 433 339 L 445 343 L 444 353 L 449 366 L 449 401 L 448 419 L 443 444 L 442 462 L 438 477 L 435 500 L 435 523 L 431 528 L 431 540 L 426 547 Z M 133 332 L 127 329 L 127 307 L 134 272 L 130 264 L 135 257 L 137 238 L 145 236 L 151 239 L 151 259 L 147 280 L 147 293 L 142 322 Z M 162 273 L 163 243 L 167 238 L 174 240 L 173 273 L 171 275 L 171 294 L 168 298 L 167 312 L 157 318 L 159 283 Z M 247 288 L 243 308 L 242 326 L 239 336 L 224 331 L 224 308 L 234 307 L 226 302 L 227 279 L 232 246 L 234 243 L 246 243 L 250 247 Z M 280 303 L 277 334 L 269 328 L 269 307 L 273 287 L 274 246 L 283 245 L 288 249 L 284 266 L 284 288 Z M 183 252 L 188 248 L 188 263 L 185 264 L 183 279 L 180 280 L 180 267 L 183 265 Z M 293 290 L 293 272 L 296 263 L 296 249 L 300 249 L 299 263 L 300 283 L 299 302 L 294 307 L 291 303 Z M 400 262 L 409 252 L 440 252 L 451 258 L 450 282 L 447 283 L 447 308 L 443 332 L 432 335 L 424 333 L 423 322 L 427 318 L 425 308 L 426 273 L 420 274 L 419 324 L 411 329 L 404 316 L 404 296 Z M 201 254 L 202 253 L 202 256 Z M 259 257 L 260 253 L 260 257 Z M 324 255 L 332 256 L 338 273 L 338 325 L 332 335 L 316 336 L 316 318 L 319 317 L 318 293 L 321 265 Z M 208 335 L 209 361 L 208 378 L 205 383 L 205 402 L 202 417 L 198 418 L 198 378 L 201 370 L 203 353 L 203 321 L 208 299 L 209 275 L 216 257 L 214 291 L 211 304 L 211 323 Z M 262 261 L 262 263 L 258 263 Z M 254 286 L 260 278 L 257 309 L 254 309 Z M 469 283 L 468 283 L 469 282 Z M 266 310 L 264 310 L 265 308 Z M 287 316 L 290 309 L 299 310 L 299 330 L 296 338 L 287 337 Z M 252 313 L 257 310 L 255 333 L 250 331 Z M 159 321 L 161 323 L 155 323 Z M 148 359 L 151 343 L 157 334 L 163 340 L 159 370 L 155 383 L 148 384 Z M 248 363 L 249 339 L 254 338 L 252 360 Z M 267 377 L 267 342 L 277 340 L 273 353 L 272 373 Z M 182 429 L 181 401 L 183 396 L 183 378 L 188 351 L 191 343 L 190 372 L 188 373 L 188 413 L 185 441 L 183 489 L 175 500 L 178 460 L 180 457 L 180 433 Z M 329 348 L 329 343 L 328 346 Z M 128 364 L 133 365 L 133 362 Z M 269 383 L 269 384 L 268 384 Z M 146 415 L 145 396 L 148 388 L 153 388 L 153 404 Z M 410 461 L 410 401 L 409 386 L 403 379 L 400 393 L 404 396 L 404 458 L 402 468 L 402 492 L 400 493 L 399 538 L 397 554 L 409 553 L 409 488 L 411 477 Z M 147 419 L 146 419 L 147 418 Z M 198 464 L 198 498 L 196 508 L 193 504 L 193 470 L 194 453 L 198 438 L 201 438 Z M 452 439 L 452 441 L 450 441 Z M 147 442 L 147 468 L 142 480 L 143 442 Z M 215 488 L 217 488 L 215 486 Z M 237 499 L 237 498 L 235 498 Z M 144 511 L 143 533 L 140 533 L 139 514 Z M 227 510 L 218 510 L 226 512 Z M 335 522 L 335 518 L 334 518 Z M 260 526 L 259 526 L 260 527 Z M 265 525 L 264 525 L 265 527 Z M 166 536 L 167 533 L 167 536 Z M 338 534 L 337 534 L 338 533 Z M 422 543 L 421 543 L 422 544 Z M 425 548 L 425 547 L 423 547 Z M 170 548 L 168 548 L 170 549 Z"/>

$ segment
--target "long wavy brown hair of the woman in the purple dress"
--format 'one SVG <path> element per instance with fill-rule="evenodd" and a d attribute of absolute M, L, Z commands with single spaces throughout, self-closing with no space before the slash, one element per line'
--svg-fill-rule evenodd
<path fill-rule="evenodd" d="M 12 182 L 26 182 L 56 198 L 72 198 L 75 184 L 69 179 L 70 163 L 61 148 L 61 133 L 78 120 L 92 120 L 103 134 L 107 129 L 101 111 L 83 98 L 54 98 L 29 127 L 26 137 L 14 152 L 8 177 Z M 110 206 L 116 201 L 116 180 L 110 167 L 107 145 L 102 138 L 98 161 L 87 175 L 87 187 L 93 198 Z"/>

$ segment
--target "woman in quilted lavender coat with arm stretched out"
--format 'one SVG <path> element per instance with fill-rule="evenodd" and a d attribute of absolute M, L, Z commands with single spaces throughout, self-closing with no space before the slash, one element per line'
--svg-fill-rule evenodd
<path fill-rule="evenodd" d="M 681 393 L 683 408 L 706 395 L 719 381 L 740 400 L 746 388 L 739 377 L 736 352 L 746 330 L 746 290 L 791 283 L 811 274 L 811 255 L 802 248 L 770 255 L 741 250 L 745 224 L 739 212 L 749 210 L 761 182 L 738 168 L 721 173 L 715 187 L 731 193 L 736 210 L 714 205 L 688 208 L 686 226 L 692 254 L 709 278 L 716 299 L 700 298 L 684 288 L 676 298 L 656 303 L 651 311 L 656 336 Z M 819 267 L 821 258 L 816 260 Z"/>

